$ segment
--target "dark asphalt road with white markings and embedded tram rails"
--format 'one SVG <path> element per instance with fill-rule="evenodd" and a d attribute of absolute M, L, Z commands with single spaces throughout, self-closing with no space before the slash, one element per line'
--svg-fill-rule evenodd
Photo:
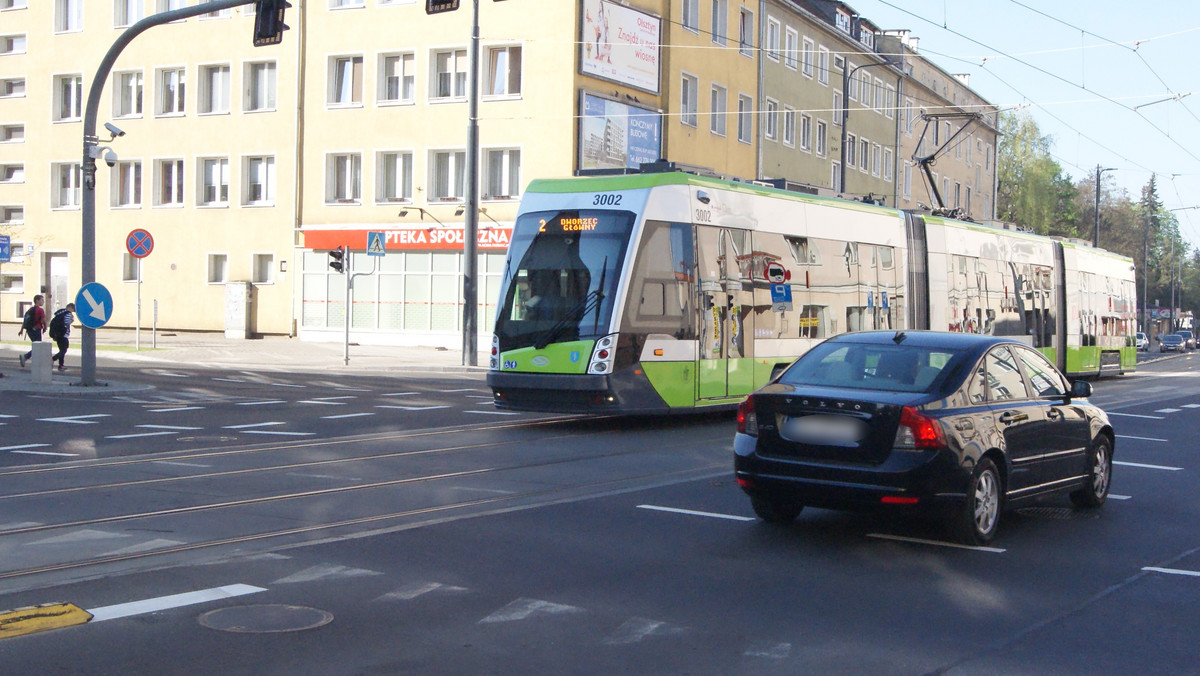
<path fill-rule="evenodd" d="M 473 373 L 169 369 L 54 401 L 74 421 L 7 396 L 4 445 L 64 455 L 0 451 L 0 609 L 95 617 L 0 639 L 0 670 L 1198 674 L 1196 365 L 1096 383 L 1100 512 L 1048 502 L 976 549 L 761 524 L 730 417 L 496 415 Z"/>

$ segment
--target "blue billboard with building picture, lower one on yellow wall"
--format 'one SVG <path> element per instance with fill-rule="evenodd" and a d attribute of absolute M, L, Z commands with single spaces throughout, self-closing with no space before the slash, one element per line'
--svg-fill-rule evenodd
<path fill-rule="evenodd" d="M 662 156 L 662 118 L 656 110 L 586 91 L 580 110 L 580 169 L 636 169 Z"/>

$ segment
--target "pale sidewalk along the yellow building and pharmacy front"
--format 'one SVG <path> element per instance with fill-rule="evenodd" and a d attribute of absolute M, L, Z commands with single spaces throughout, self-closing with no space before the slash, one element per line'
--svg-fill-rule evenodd
<path fill-rule="evenodd" d="M 462 364 L 461 349 L 436 347 L 398 347 L 382 345 L 350 345 L 349 364 L 344 363 L 346 347 L 341 342 L 308 342 L 287 336 L 264 336 L 252 340 L 230 340 L 218 333 L 160 331 L 157 347 L 151 347 L 150 331 L 143 330 L 140 349 L 134 331 L 101 329 L 96 333 L 95 387 L 79 383 L 79 348 L 82 335 L 71 336 L 67 370 L 55 370 L 50 383 L 35 383 L 29 364 L 20 367 L 18 357 L 29 351 L 29 342 L 6 340 L 0 345 L 0 393 L 25 391 L 40 394 L 113 395 L 154 389 L 136 382 L 137 371 L 144 369 L 211 367 L 251 371 L 344 373 L 400 373 L 413 371 L 479 373 L 487 371 L 488 355 L 480 352 L 478 366 Z M 124 366 L 119 372 L 106 365 Z M 113 379 L 113 378 L 116 379 Z M 102 385 L 100 383 L 103 383 Z"/>

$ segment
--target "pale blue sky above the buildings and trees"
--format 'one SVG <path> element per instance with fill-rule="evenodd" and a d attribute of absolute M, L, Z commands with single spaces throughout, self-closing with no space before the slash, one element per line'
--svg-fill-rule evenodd
<path fill-rule="evenodd" d="M 1160 0 L 847 0 L 882 30 L 907 29 L 920 54 L 1054 140 L 1072 181 L 1123 187 L 1151 174 L 1200 247 L 1200 2 Z M 1103 231 L 1102 231 L 1103 235 Z M 1100 243 L 1103 246 L 1103 241 Z"/>

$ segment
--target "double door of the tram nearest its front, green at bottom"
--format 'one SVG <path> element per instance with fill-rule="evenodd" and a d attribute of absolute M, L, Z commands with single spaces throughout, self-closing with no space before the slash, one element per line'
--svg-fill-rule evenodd
<path fill-rule="evenodd" d="M 696 399 L 754 390 L 754 282 L 750 233 L 696 227 L 700 364 Z"/>

